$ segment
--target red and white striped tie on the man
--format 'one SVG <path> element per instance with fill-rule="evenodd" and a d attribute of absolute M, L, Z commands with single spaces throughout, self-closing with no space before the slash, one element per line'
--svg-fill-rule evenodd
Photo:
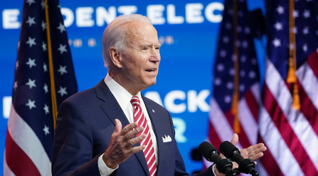
<path fill-rule="evenodd" d="M 146 146 L 146 148 L 143 149 L 143 154 L 145 155 L 147 161 L 150 176 L 153 176 L 157 171 L 157 165 L 155 163 L 154 149 L 150 137 L 150 130 L 147 123 L 147 119 L 142 113 L 138 97 L 133 96 L 130 102 L 133 105 L 135 122 L 137 122 L 139 126 L 143 127 L 143 131 L 138 133 L 137 136 L 140 136 L 144 133 L 146 134 L 146 138 L 140 141 L 140 145 Z"/>

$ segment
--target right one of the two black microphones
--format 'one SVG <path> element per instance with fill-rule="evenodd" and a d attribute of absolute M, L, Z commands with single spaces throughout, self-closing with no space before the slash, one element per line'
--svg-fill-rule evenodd
<path fill-rule="evenodd" d="M 225 157 L 230 158 L 239 164 L 238 169 L 241 172 L 249 173 L 253 176 L 258 175 L 258 172 L 255 170 L 255 163 L 253 162 L 253 160 L 250 158 L 244 159 L 239 149 L 235 147 L 231 142 L 222 142 L 219 149 Z"/>

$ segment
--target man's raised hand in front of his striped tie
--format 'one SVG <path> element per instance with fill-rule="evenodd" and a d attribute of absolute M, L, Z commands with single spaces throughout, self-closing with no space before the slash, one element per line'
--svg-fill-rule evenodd
<path fill-rule="evenodd" d="M 145 145 L 132 147 L 132 145 L 142 141 L 146 135 L 134 137 L 143 130 L 143 127 L 137 127 L 136 122 L 125 126 L 122 129 L 122 123 L 115 119 L 115 130 L 111 137 L 110 145 L 102 156 L 105 164 L 110 168 L 116 168 L 118 164 L 124 162 L 130 155 L 142 151 Z"/>

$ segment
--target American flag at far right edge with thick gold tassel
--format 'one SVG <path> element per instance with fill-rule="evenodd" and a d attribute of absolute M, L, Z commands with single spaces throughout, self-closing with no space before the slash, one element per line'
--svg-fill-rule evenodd
<path fill-rule="evenodd" d="M 259 139 L 268 150 L 261 158 L 267 168 L 262 175 L 318 175 L 318 1 L 266 3 L 268 58 Z M 295 73 L 293 82 L 287 81 L 289 71 Z"/>

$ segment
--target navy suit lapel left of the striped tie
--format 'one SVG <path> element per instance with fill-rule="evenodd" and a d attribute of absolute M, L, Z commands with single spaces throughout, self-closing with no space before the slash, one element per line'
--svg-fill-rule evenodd
<path fill-rule="evenodd" d="M 118 104 L 117 100 L 115 99 L 114 95 L 111 93 L 108 86 L 105 84 L 104 80 L 102 79 L 95 87 L 96 90 L 96 97 L 102 101 L 103 104 L 100 105 L 101 109 L 104 111 L 106 116 L 113 122 L 115 126 L 115 119 L 118 119 L 122 123 L 122 127 L 124 128 L 126 125 L 129 124 L 129 121 L 123 112 L 122 108 Z M 133 145 L 132 147 L 140 146 L 140 143 Z M 150 176 L 148 171 L 147 161 L 145 159 L 145 155 L 142 151 L 134 154 L 140 162 L 144 172 Z M 133 155 L 132 155 L 133 156 Z M 131 156 L 131 157 L 132 157 Z"/>

